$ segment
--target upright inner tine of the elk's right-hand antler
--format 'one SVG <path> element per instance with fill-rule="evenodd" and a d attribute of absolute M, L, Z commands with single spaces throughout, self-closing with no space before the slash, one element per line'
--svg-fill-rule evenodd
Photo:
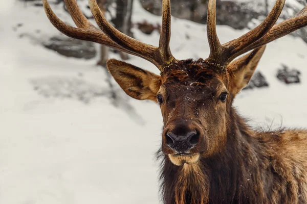
<path fill-rule="evenodd" d="M 223 47 L 216 33 L 216 0 L 209 0 L 208 4 L 207 37 L 210 46 L 209 59 L 217 59 Z"/>

